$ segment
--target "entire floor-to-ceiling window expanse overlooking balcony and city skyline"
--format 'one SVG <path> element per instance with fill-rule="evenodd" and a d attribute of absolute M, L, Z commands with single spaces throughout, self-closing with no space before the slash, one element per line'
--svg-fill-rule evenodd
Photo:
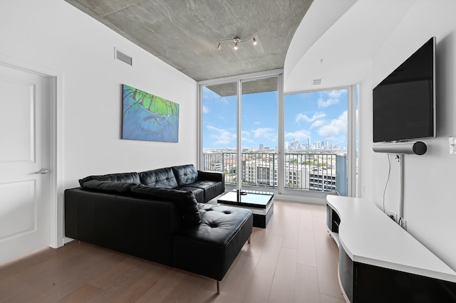
<path fill-rule="evenodd" d="M 199 168 L 227 188 L 356 196 L 356 86 L 283 95 L 281 75 L 261 75 L 199 93 Z"/>

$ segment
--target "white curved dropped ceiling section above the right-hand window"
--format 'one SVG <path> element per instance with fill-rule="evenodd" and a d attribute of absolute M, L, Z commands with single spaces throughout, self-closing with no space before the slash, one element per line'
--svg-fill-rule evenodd
<path fill-rule="evenodd" d="M 314 0 L 286 53 L 284 92 L 361 83 L 373 55 L 414 2 Z M 321 85 L 313 85 L 314 79 L 322 79 Z"/>

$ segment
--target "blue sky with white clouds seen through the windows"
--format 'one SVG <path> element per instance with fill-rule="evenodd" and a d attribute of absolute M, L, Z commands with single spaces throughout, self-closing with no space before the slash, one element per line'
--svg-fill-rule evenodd
<path fill-rule="evenodd" d="M 203 89 L 203 148 L 236 148 L 237 97 Z M 347 145 L 347 90 L 285 96 L 285 141 Z M 277 92 L 242 95 L 242 148 L 276 148 Z"/>

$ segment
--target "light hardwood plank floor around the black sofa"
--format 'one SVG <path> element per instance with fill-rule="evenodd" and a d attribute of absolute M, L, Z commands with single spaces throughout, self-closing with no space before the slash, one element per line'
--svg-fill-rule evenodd
<path fill-rule="evenodd" d="M 73 241 L 0 265 L 0 302 L 345 302 L 337 263 L 325 206 L 274 201 L 219 295 L 207 277 Z"/>

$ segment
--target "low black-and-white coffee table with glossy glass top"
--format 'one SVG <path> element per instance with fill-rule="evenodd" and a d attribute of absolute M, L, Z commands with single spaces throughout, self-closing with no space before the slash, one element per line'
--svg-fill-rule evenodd
<path fill-rule="evenodd" d="M 274 213 L 274 193 L 234 189 L 221 196 L 217 203 L 248 208 L 254 213 L 254 226 L 266 228 Z"/>

